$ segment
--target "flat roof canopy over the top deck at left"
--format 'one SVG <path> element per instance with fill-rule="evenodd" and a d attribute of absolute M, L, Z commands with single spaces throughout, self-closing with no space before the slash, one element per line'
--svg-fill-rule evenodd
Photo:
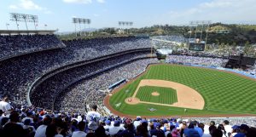
<path fill-rule="evenodd" d="M 28 34 L 41 34 L 41 35 L 46 35 L 46 34 L 54 34 L 54 32 L 57 30 L 0 30 L 0 35 L 17 35 L 17 34 L 22 34 L 22 35 L 28 35 Z"/>

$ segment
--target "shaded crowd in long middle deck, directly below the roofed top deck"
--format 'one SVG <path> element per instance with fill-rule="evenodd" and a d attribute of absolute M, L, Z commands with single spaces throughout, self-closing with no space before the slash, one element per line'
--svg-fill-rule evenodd
<path fill-rule="evenodd" d="M 9 94 L 14 103 L 26 104 L 27 88 L 49 71 L 107 54 L 150 47 L 149 39 L 144 37 L 106 37 L 63 43 L 67 44 L 66 48 L 24 54 L 0 61 L 0 97 Z"/>

